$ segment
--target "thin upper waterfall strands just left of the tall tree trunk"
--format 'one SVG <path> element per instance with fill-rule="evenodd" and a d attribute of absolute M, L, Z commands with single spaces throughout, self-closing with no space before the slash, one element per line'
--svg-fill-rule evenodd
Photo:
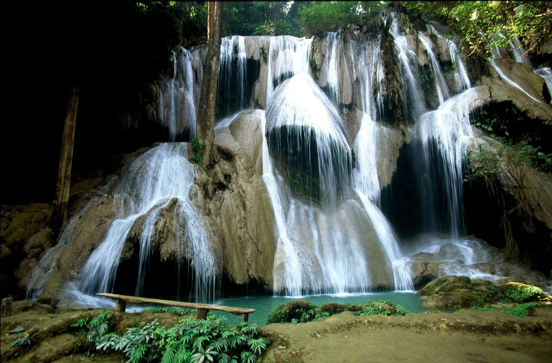
<path fill-rule="evenodd" d="M 195 137 L 196 105 L 194 97 L 193 55 L 182 46 L 172 52 L 173 71 L 169 80 L 161 79 L 159 116 L 174 141 L 178 134 L 189 131 Z"/>

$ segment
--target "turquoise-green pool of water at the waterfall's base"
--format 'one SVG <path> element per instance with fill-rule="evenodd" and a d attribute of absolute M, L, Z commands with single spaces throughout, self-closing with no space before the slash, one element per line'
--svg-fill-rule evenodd
<path fill-rule="evenodd" d="M 256 323 L 259 327 L 266 325 L 267 317 L 272 309 L 277 308 L 283 303 L 289 302 L 291 300 L 296 300 L 298 298 L 290 298 L 283 296 L 251 296 L 251 297 L 235 297 L 235 298 L 224 298 L 217 301 L 216 305 L 232 306 L 232 307 L 241 307 L 241 308 L 251 308 L 256 311 L 253 314 L 249 315 L 250 324 Z M 302 300 L 311 301 L 317 306 L 320 306 L 323 303 L 327 302 L 338 302 L 338 303 L 352 303 L 352 304 L 363 304 L 367 300 L 389 300 L 396 304 L 400 304 L 402 307 L 407 309 L 411 313 L 420 313 L 423 311 L 431 311 L 436 309 L 424 308 L 422 307 L 422 300 L 416 296 L 416 293 L 413 292 L 378 292 L 378 293 L 365 293 L 365 294 L 348 294 L 347 296 L 336 296 L 336 295 L 314 295 L 314 296 L 305 296 L 301 298 Z M 444 309 L 440 309 L 444 311 Z M 448 309 L 446 309 L 448 311 Z M 222 315 L 227 318 L 228 324 L 240 324 L 241 316 L 232 315 L 225 312 L 214 311 L 216 315 Z"/>

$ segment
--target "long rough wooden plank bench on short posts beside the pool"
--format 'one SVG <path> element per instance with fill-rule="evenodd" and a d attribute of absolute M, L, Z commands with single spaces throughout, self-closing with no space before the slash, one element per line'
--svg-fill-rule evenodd
<path fill-rule="evenodd" d="M 209 310 L 224 311 L 234 315 L 243 315 L 243 321 L 247 322 L 249 314 L 255 312 L 255 309 L 236 308 L 231 306 L 209 305 L 188 303 L 183 301 L 150 299 L 147 297 L 137 297 L 110 293 L 97 293 L 97 296 L 109 297 L 115 299 L 115 311 L 126 311 L 126 303 L 131 304 L 158 304 L 165 306 L 176 306 L 181 308 L 198 309 L 198 319 L 205 319 Z"/>

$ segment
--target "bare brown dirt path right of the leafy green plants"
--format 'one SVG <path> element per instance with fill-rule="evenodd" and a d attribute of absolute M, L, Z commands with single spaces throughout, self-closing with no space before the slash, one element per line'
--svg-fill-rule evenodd
<path fill-rule="evenodd" d="M 482 311 L 345 312 L 319 322 L 267 325 L 262 330 L 274 344 L 263 362 L 550 362 L 551 327 L 552 308 L 526 318 Z"/>

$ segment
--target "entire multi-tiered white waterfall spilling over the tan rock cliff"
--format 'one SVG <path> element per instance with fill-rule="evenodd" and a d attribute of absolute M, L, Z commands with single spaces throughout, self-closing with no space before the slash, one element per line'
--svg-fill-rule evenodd
<path fill-rule="evenodd" d="M 293 36 L 222 39 L 215 133 L 231 139 L 238 132 L 229 129 L 237 115 L 259 105 L 266 109 L 254 113 L 260 125 L 251 130 L 259 134 L 240 136 L 251 143 L 262 140 L 262 192 L 268 194 L 276 241 L 269 269 L 275 294 L 411 291 L 412 261 L 407 256 L 450 245 L 458 253 L 447 255 L 449 263 L 441 273 L 492 278 L 469 266 L 484 262 L 487 255 L 477 252 L 480 243 L 463 238 L 463 162 L 468 144 L 480 142 L 469 120 L 470 112 L 481 106 L 480 94 L 471 87 L 457 46 L 433 25 L 407 34 L 396 14 L 381 22 L 389 32 L 334 32 L 316 42 Z M 519 44 L 512 40 L 512 47 L 516 60 L 527 63 Z M 500 56 L 500 51 L 495 53 Z M 206 46 L 177 49 L 171 73 L 160 80 L 158 116 L 171 141 L 195 135 L 205 54 Z M 443 54 L 450 65 L 446 72 Z M 401 95 L 395 99 L 400 111 L 391 110 L 402 115 L 400 130 L 388 123 L 390 64 L 396 66 L 395 92 Z M 506 83 L 540 102 L 494 60 L 490 64 Z M 550 87 L 549 69 L 535 73 Z M 392 151 L 388 140 L 397 134 L 404 145 L 401 153 L 406 151 L 400 157 L 412 170 L 408 183 L 416 186 L 417 232 L 426 233 L 417 239 L 416 248 L 405 248 L 394 232 L 400 226 L 392 225 L 382 212 L 389 198 L 382 190 L 391 188 L 399 157 L 398 147 Z M 209 191 L 205 183 L 209 178 L 219 178 L 221 188 L 233 183 L 220 176 L 226 168 L 226 175 L 233 177 L 232 157 L 222 159 L 218 169 L 205 173 L 188 161 L 186 143 L 173 142 L 155 146 L 126 166 L 120 181 L 104 191 L 116 196 L 117 217 L 73 278 L 78 290 L 112 291 L 122 256 L 131 250 L 137 261 L 134 292 L 144 294 L 151 259 L 158 258 L 154 251 L 162 249 L 163 258 L 188 267 L 195 299 L 213 299 L 221 276 L 228 272 L 223 250 L 230 242 L 219 240 L 213 228 L 214 223 L 224 223 L 213 210 L 223 204 L 225 194 L 213 196 L 213 188 Z M 389 169 L 386 173 L 382 165 Z M 203 202 L 201 193 L 216 202 Z M 29 296 L 39 296 L 62 250 L 75 238 L 72 230 L 78 218 L 94 202 L 68 223 L 60 243 L 45 255 L 31 278 Z M 198 207 L 201 203 L 205 208 Z M 239 239 L 243 243 L 243 234 Z M 261 244 L 256 248 L 262 250 Z M 249 273 L 245 272 L 247 278 Z"/>

